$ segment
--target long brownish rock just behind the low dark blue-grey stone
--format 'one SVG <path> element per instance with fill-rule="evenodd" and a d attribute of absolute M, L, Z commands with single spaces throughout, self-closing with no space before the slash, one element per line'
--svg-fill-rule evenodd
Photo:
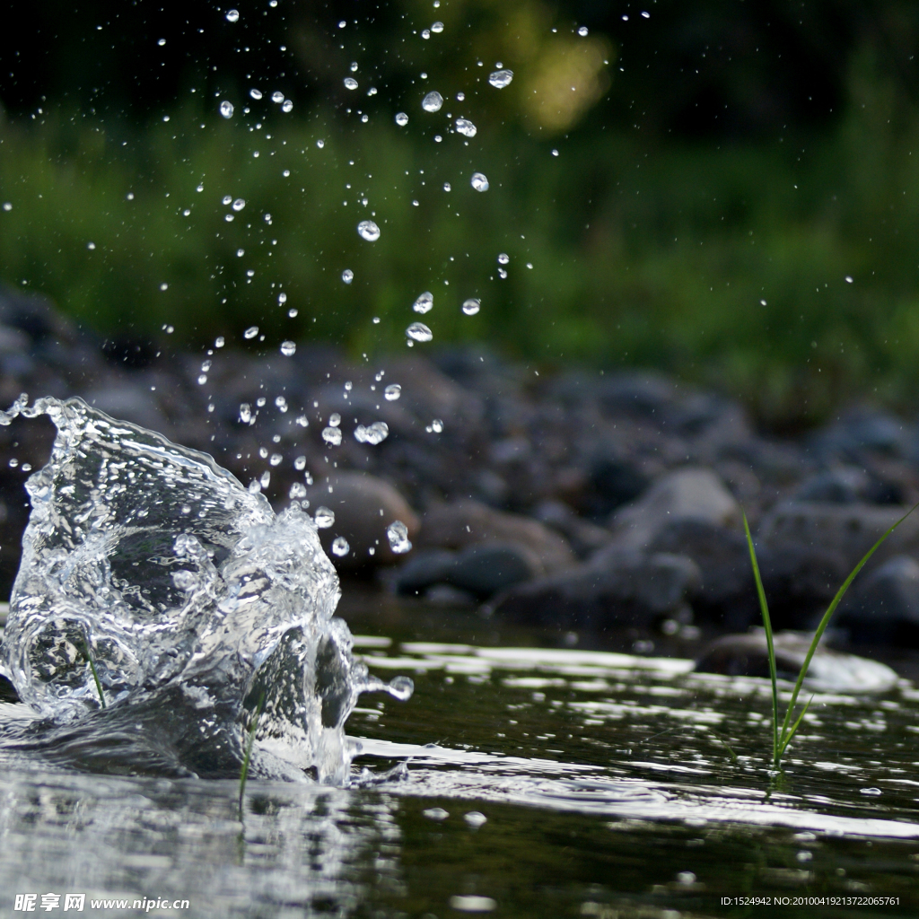
<path fill-rule="evenodd" d="M 565 539 L 539 521 L 508 514 L 478 501 L 432 505 L 422 518 L 419 547 L 464 549 L 480 542 L 501 542 L 532 552 L 550 573 L 569 567 L 576 560 Z"/>

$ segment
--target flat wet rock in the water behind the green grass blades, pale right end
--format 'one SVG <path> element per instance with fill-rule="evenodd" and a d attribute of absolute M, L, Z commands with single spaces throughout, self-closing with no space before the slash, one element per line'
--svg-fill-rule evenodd
<path fill-rule="evenodd" d="M 794 682 L 811 646 L 811 634 L 777 632 L 773 636 L 779 679 Z M 766 632 L 725 635 L 715 641 L 696 664 L 698 673 L 729 676 L 769 676 Z M 821 643 L 811 659 L 804 686 L 831 692 L 884 692 L 897 675 L 886 664 L 827 648 Z M 802 699 L 804 701 L 804 699 Z"/>

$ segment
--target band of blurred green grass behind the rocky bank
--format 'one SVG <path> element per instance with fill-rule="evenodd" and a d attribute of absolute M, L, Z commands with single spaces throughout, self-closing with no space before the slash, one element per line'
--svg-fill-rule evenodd
<path fill-rule="evenodd" d="M 860 394 L 914 407 L 919 119 L 877 80 L 852 93 L 829 133 L 733 145 L 543 142 L 514 127 L 438 143 L 417 116 L 403 130 L 332 110 L 255 130 L 191 105 L 130 130 L 9 121 L 0 278 L 103 335 L 169 323 L 199 345 L 257 324 L 271 346 L 327 340 L 354 356 L 403 347 L 431 290 L 437 345 L 661 368 L 739 395 L 776 429 Z M 225 195 L 246 202 L 232 222 Z M 364 219 L 376 243 L 357 235 Z M 467 297 L 478 315 L 460 311 Z"/>

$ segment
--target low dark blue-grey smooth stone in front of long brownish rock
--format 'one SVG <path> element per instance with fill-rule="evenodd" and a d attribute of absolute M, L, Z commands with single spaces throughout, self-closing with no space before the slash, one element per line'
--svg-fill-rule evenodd
<path fill-rule="evenodd" d="M 525 547 L 483 542 L 461 552 L 419 553 L 399 572 L 395 585 L 403 596 L 428 596 L 432 587 L 442 584 L 484 600 L 542 571 L 539 558 Z"/>

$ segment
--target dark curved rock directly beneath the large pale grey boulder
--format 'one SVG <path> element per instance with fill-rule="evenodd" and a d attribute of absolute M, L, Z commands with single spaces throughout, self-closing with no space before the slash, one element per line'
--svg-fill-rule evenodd
<path fill-rule="evenodd" d="M 701 582 L 693 610 L 732 630 L 759 617 L 750 551 L 743 532 L 705 520 L 675 520 L 652 539 L 649 551 L 685 555 L 698 565 Z"/>

